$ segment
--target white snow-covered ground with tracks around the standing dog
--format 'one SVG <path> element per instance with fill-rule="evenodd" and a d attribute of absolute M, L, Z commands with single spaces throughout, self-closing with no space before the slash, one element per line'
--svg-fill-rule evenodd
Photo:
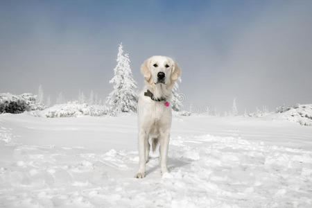
<path fill-rule="evenodd" d="M 311 207 L 312 128 L 266 118 L 175 116 L 136 179 L 134 114 L 0 115 L 0 207 Z"/>

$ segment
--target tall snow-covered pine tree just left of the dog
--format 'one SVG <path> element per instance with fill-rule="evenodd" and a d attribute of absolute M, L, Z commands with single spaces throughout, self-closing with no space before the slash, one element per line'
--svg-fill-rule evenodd
<path fill-rule="evenodd" d="M 119 44 L 114 77 L 110 80 L 113 91 L 107 96 L 106 104 L 113 112 L 137 111 L 137 83 L 132 78 L 128 53 L 123 55 L 123 45 Z"/>

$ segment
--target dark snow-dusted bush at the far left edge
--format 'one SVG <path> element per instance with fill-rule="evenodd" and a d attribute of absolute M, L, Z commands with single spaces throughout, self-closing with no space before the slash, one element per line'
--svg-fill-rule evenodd
<path fill-rule="evenodd" d="M 44 105 L 37 103 L 36 98 L 37 96 L 31 93 L 21 95 L 0 94 L 0 112 L 18 114 L 29 110 L 43 110 Z"/>

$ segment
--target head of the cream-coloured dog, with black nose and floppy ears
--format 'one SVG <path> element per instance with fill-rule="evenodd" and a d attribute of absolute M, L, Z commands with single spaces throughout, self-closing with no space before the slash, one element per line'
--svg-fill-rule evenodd
<path fill-rule="evenodd" d="M 154 55 L 141 65 L 146 83 L 150 85 L 171 85 L 181 76 L 181 69 L 169 57 Z"/>

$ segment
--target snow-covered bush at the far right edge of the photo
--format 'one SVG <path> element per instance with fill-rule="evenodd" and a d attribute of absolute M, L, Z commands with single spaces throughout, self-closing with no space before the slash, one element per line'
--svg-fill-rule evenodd
<path fill-rule="evenodd" d="M 297 122 L 301 125 L 312 125 L 312 104 L 297 104 L 293 107 L 286 107 L 283 105 L 277 107 L 276 112 L 282 119 Z"/>

